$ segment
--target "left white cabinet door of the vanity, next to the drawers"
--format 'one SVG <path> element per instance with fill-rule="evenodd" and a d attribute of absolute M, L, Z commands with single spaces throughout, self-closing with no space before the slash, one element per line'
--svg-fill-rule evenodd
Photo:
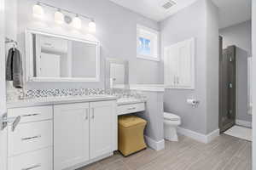
<path fill-rule="evenodd" d="M 88 161 L 89 151 L 89 104 L 55 105 L 55 170 Z"/>

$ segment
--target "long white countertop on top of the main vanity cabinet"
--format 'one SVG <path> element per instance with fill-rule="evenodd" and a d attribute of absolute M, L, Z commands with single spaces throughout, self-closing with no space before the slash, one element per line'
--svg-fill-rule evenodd
<path fill-rule="evenodd" d="M 81 102 L 93 102 L 93 101 L 106 101 L 116 100 L 117 97 L 113 95 L 89 95 L 78 97 L 50 97 L 50 98 L 37 98 L 37 99 L 20 99 L 7 102 L 7 108 L 16 107 L 28 107 L 37 105 L 60 105 L 60 104 L 72 104 Z"/>

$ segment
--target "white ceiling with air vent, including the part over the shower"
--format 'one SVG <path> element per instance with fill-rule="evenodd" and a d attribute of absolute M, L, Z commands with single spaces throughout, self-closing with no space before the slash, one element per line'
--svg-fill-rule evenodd
<path fill-rule="evenodd" d="M 197 0 L 173 0 L 177 4 L 169 9 L 161 5 L 168 0 L 110 0 L 120 6 L 131 9 L 138 14 L 143 14 L 149 19 L 165 20 L 178 10 L 188 7 Z M 219 8 L 219 26 L 224 28 L 251 19 L 252 0 L 212 0 Z"/>

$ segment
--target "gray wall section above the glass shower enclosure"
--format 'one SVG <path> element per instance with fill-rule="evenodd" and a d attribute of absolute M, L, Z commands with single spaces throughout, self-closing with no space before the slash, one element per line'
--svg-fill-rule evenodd
<path fill-rule="evenodd" d="M 251 20 L 235 26 L 229 26 L 219 30 L 219 35 L 224 37 L 223 46 L 236 45 L 249 55 L 252 54 L 252 24 Z"/>

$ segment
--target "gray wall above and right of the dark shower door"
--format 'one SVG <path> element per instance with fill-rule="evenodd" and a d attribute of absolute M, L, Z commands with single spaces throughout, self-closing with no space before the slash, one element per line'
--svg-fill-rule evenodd
<path fill-rule="evenodd" d="M 248 80 L 247 58 L 252 54 L 252 28 L 251 20 L 219 30 L 223 37 L 224 46 L 236 45 L 236 119 L 252 121 L 247 114 L 248 108 Z"/>

